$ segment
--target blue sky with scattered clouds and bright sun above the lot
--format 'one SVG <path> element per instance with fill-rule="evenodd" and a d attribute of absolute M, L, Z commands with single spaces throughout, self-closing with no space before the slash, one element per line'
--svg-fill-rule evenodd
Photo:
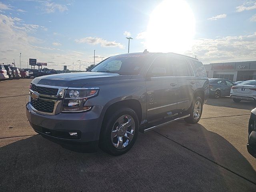
<path fill-rule="evenodd" d="M 175 52 L 204 64 L 256 60 L 254 0 L 0 0 L 0 62 L 81 70 L 116 54 Z"/>

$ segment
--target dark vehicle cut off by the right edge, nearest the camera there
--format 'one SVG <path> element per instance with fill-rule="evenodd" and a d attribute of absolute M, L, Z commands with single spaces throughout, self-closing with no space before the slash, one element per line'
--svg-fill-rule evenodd
<path fill-rule="evenodd" d="M 256 158 L 256 108 L 251 111 L 250 115 L 247 150 Z"/>

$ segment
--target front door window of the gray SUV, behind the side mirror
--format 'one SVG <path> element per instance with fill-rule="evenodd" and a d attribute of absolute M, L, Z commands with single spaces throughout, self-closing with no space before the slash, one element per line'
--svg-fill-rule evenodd
<path fill-rule="evenodd" d="M 158 57 L 154 60 L 150 66 L 147 76 L 163 77 L 163 76 L 173 76 L 171 72 L 171 64 L 168 57 Z"/>

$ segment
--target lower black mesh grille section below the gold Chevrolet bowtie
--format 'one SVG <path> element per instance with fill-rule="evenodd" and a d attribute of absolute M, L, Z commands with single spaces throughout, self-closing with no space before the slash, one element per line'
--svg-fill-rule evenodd
<path fill-rule="evenodd" d="M 54 102 L 44 101 L 31 98 L 31 105 L 38 111 L 52 113 L 54 110 Z"/>

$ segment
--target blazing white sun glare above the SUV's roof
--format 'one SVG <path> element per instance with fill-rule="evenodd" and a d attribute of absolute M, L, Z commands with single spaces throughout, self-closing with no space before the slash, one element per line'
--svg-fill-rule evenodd
<path fill-rule="evenodd" d="M 146 48 L 150 52 L 184 53 L 195 34 L 194 14 L 185 0 L 164 0 L 150 15 Z"/>

